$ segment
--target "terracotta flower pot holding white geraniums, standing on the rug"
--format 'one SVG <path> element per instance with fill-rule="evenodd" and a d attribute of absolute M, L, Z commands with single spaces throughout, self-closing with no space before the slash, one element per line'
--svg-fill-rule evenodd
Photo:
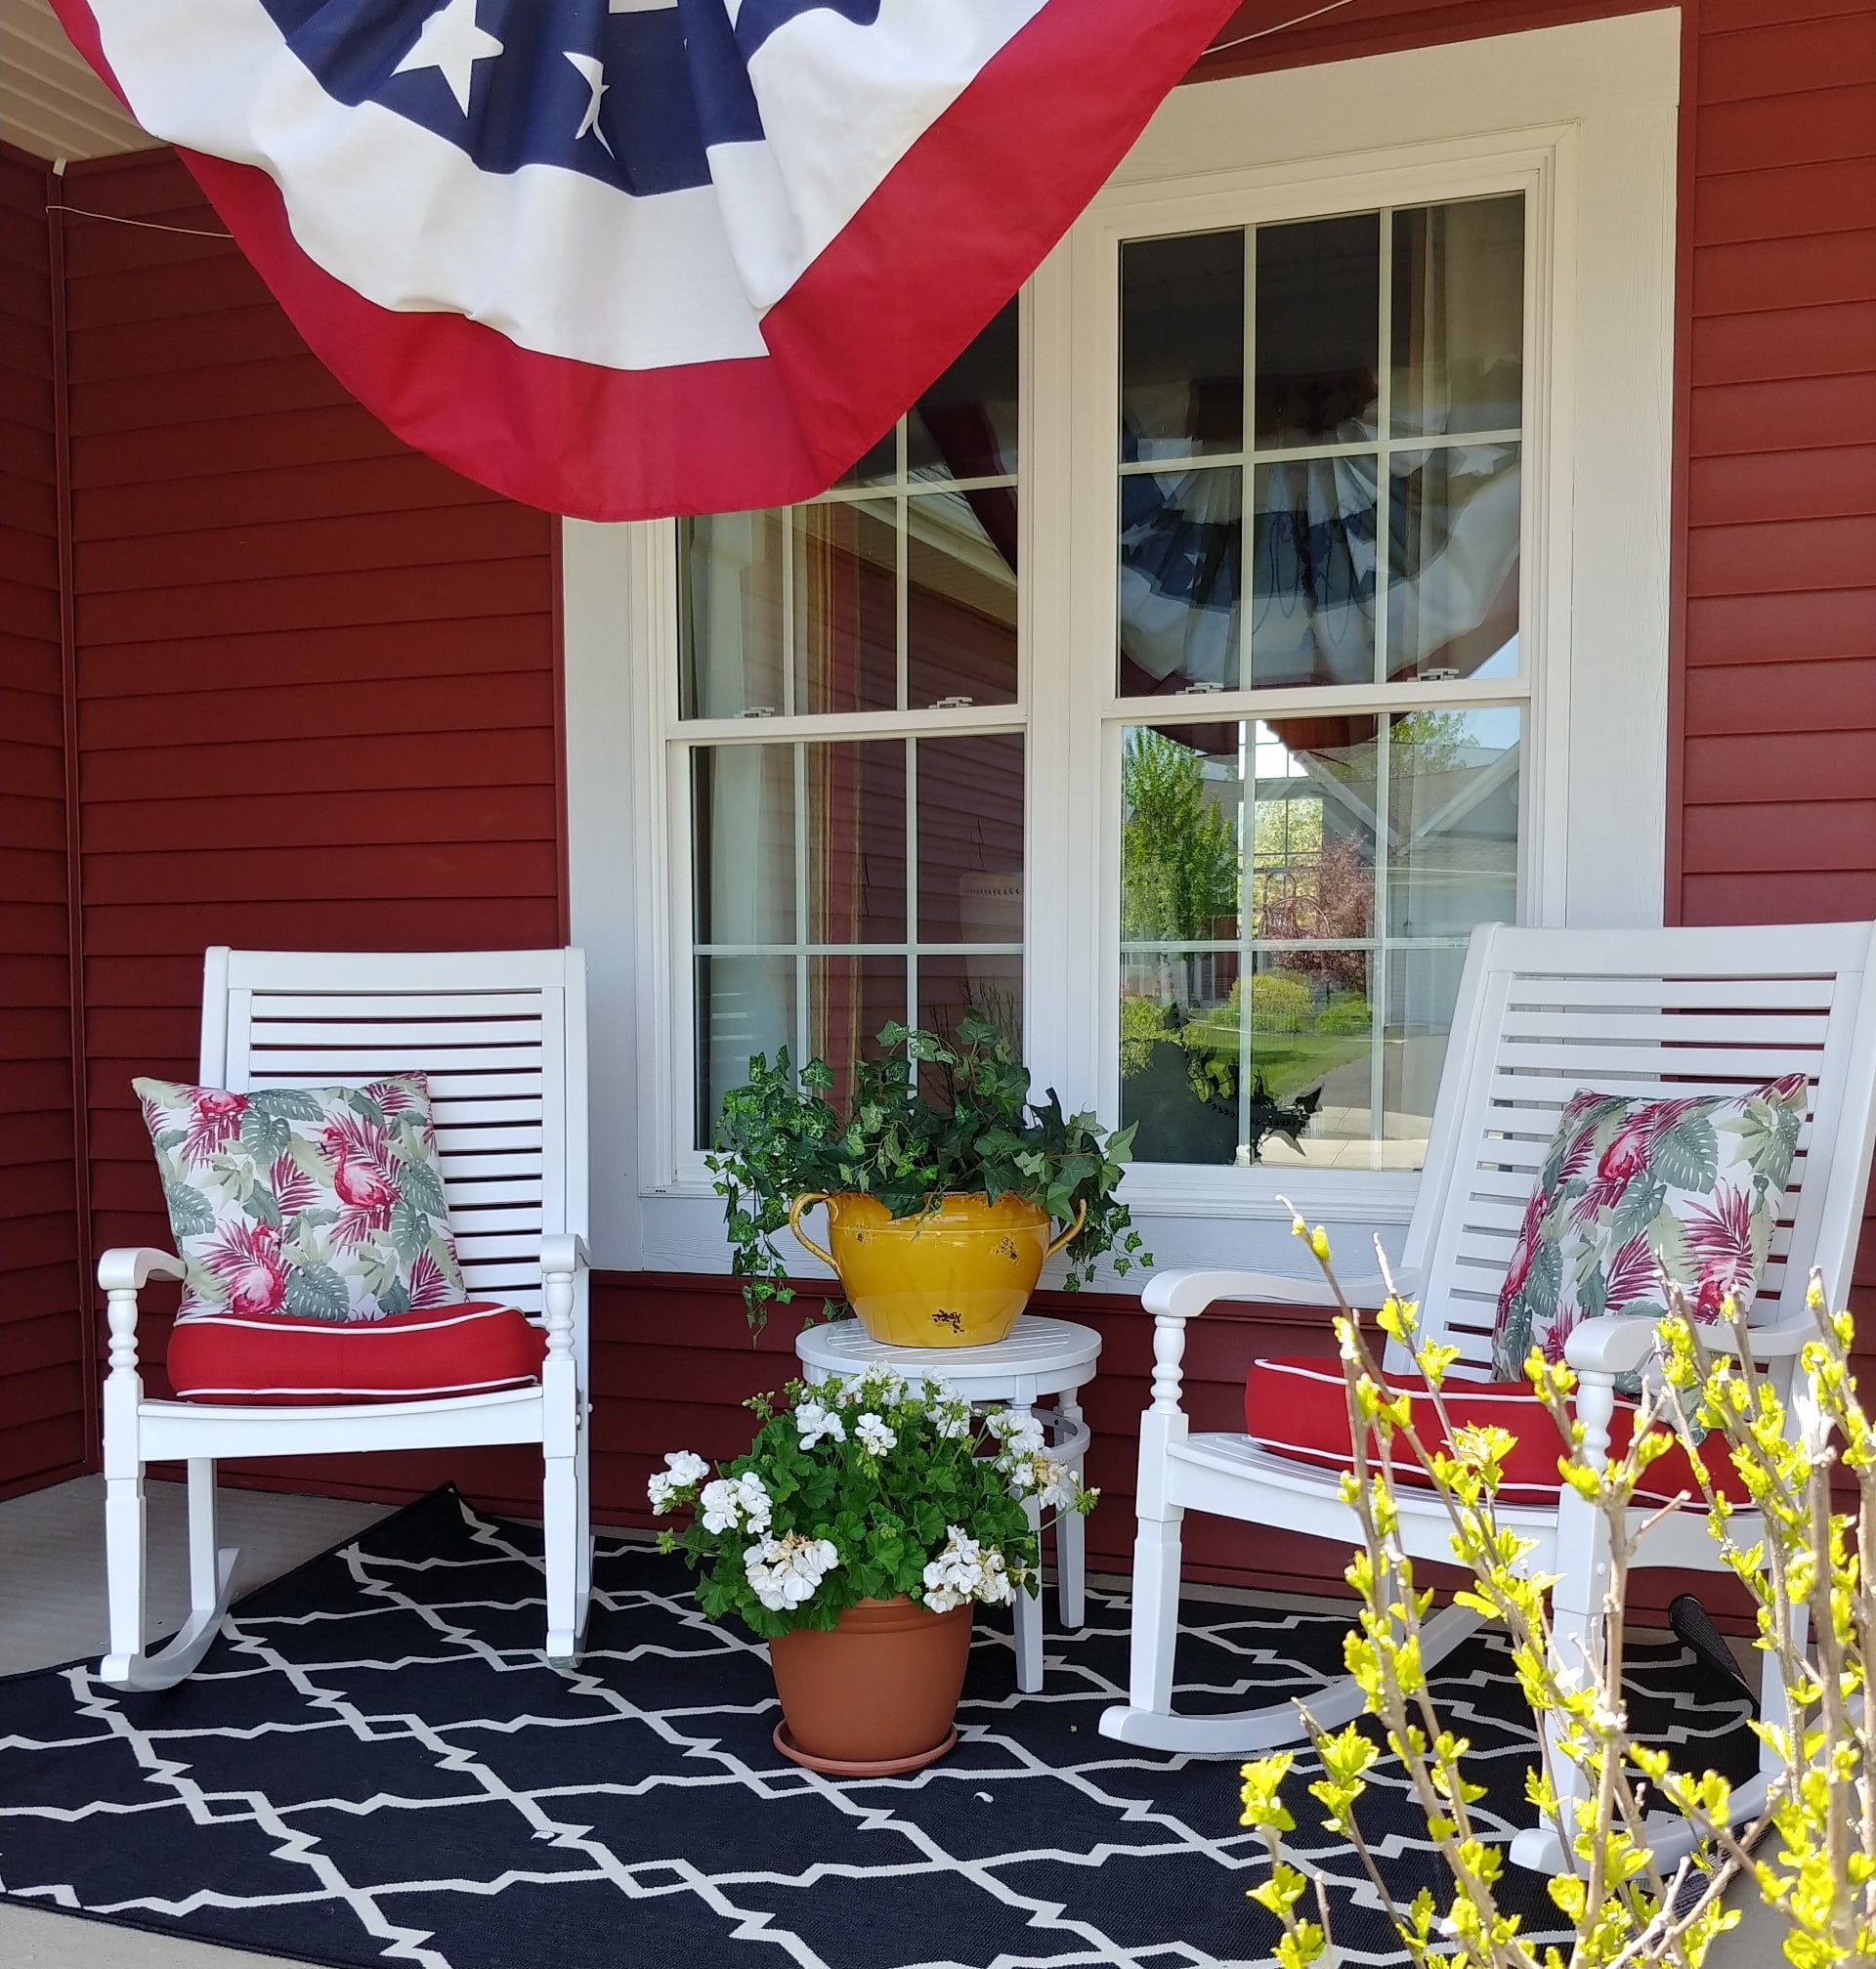
<path fill-rule="evenodd" d="M 776 1748 L 797 1764 L 880 1776 L 915 1770 L 957 1741 L 970 1605 L 931 1613 L 904 1593 L 860 1601 L 831 1632 L 768 1644 L 782 1697 Z"/>

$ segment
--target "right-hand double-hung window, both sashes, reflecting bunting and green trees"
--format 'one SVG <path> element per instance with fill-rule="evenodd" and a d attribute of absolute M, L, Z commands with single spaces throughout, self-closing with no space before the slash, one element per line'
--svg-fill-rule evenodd
<path fill-rule="evenodd" d="M 1526 236 L 1514 191 L 1120 242 L 1144 1164 L 1419 1168 L 1467 933 L 1520 910 Z"/>

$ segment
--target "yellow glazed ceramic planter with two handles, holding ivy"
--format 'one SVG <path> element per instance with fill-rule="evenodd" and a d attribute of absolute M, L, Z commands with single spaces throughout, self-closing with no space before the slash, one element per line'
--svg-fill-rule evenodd
<path fill-rule="evenodd" d="M 823 1250 L 803 1229 L 801 1213 L 827 1205 Z M 841 1290 L 860 1325 L 888 1347 L 984 1347 L 1000 1341 L 1024 1309 L 1045 1258 L 1081 1231 L 1087 1209 L 1061 1237 L 1049 1217 L 1022 1197 L 992 1203 L 947 1195 L 919 1217 L 894 1217 L 878 1197 L 843 1189 L 795 1197 L 787 1225 L 823 1264 L 841 1274 Z"/>

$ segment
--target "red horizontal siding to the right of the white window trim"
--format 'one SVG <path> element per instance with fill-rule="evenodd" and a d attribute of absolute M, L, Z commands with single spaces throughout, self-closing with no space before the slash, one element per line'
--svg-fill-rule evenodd
<path fill-rule="evenodd" d="M 1876 916 L 1876 10 L 1703 0 L 1669 908 Z M 1876 1303 L 1876 1235 L 1854 1278 Z M 1876 1335 L 1858 1349 L 1876 1378 Z"/>

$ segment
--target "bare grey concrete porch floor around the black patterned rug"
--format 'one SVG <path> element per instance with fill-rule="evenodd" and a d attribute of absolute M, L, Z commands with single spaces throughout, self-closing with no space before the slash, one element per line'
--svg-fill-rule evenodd
<path fill-rule="evenodd" d="M 157 1636 L 179 1626 L 189 1607 L 183 1487 L 150 1483 L 148 1508 L 150 1632 Z M 240 1546 L 236 1593 L 317 1557 L 388 1510 L 346 1498 L 224 1489 L 220 1538 Z M 1297 1607 L 1346 1605 L 1224 1587 L 1197 1593 Z M 104 1644 L 104 1481 L 79 1477 L 0 1502 L 0 1676 L 98 1656 Z M 1756 1672 L 1756 1658 L 1744 1648 L 1742 1660 Z M 1707 1969 L 1770 1969 L 1782 1959 L 1780 1924 L 1750 1886 L 1734 1892 L 1734 1906 L 1744 1920 L 1713 1947 Z M 0 1900 L 0 1969 L 295 1969 L 295 1963 Z"/>

